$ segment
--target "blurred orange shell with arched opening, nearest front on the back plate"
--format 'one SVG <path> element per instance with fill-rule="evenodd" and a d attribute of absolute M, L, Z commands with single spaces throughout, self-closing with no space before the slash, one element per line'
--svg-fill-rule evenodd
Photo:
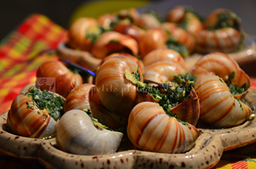
<path fill-rule="evenodd" d="M 91 53 L 96 58 L 100 59 L 111 53 L 123 51 L 126 51 L 127 53 L 131 52 L 133 56 L 137 56 L 139 52 L 138 48 L 138 43 L 130 36 L 123 35 L 119 32 L 110 31 L 103 33 L 96 40 L 96 42 L 93 44 Z"/>

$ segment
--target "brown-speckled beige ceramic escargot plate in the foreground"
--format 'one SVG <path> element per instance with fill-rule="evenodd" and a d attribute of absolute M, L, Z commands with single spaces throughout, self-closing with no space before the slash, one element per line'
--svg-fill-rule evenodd
<path fill-rule="evenodd" d="M 250 89 L 244 100 L 256 107 L 256 90 Z M 211 168 L 223 151 L 256 141 L 255 112 L 241 126 L 229 129 L 198 127 L 202 135 L 187 153 L 164 154 L 137 150 L 124 136 L 117 153 L 84 156 L 62 152 L 55 138 L 34 139 L 11 134 L 6 125 L 8 111 L 0 115 L 0 152 L 21 159 L 35 159 L 46 168 Z"/>

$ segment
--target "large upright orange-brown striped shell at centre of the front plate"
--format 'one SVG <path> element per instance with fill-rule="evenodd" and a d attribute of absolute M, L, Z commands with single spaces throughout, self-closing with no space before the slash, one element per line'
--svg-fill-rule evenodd
<path fill-rule="evenodd" d="M 96 77 L 96 92 L 102 105 L 110 112 L 128 118 L 136 105 L 138 95 L 137 87 L 124 76 L 125 70 L 137 73 L 138 65 L 125 56 L 115 56 L 106 60 L 100 67 Z M 140 68 L 140 81 L 143 76 Z M 140 100 L 142 100 L 140 98 Z"/>

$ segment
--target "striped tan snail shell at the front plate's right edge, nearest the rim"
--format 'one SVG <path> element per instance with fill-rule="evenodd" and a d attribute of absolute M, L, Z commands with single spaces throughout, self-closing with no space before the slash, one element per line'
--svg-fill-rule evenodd
<path fill-rule="evenodd" d="M 205 75 L 195 84 L 201 105 L 200 122 L 212 127 L 234 127 L 251 115 L 251 109 L 234 98 L 227 85 L 215 75 Z"/>

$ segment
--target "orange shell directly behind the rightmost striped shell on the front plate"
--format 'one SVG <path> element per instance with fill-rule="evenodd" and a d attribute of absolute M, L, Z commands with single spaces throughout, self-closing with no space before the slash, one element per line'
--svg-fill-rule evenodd
<path fill-rule="evenodd" d="M 237 84 L 238 87 L 243 84 L 251 84 L 249 76 L 239 67 L 238 63 L 223 53 L 210 53 L 203 56 L 190 71 L 197 78 L 206 74 L 215 74 L 224 80 L 232 72 L 234 72 L 234 78 L 231 79 L 231 82 Z M 234 96 L 241 98 L 247 91 Z"/>

